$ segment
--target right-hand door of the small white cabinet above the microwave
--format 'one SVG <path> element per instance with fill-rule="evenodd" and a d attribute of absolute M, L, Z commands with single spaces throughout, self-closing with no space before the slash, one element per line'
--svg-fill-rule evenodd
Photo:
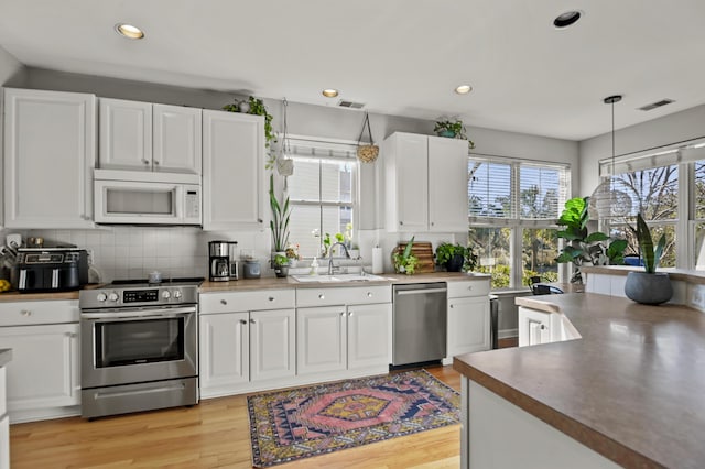
<path fill-rule="evenodd" d="M 152 121 L 152 170 L 200 174 L 200 109 L 153 105 Z"/>

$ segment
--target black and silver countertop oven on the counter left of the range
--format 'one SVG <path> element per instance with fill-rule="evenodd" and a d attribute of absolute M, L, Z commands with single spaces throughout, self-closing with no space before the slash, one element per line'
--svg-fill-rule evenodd
<path fill-rule="evenodd" d="M 10 283 L 20 293 L 65 292 L 88 283 L 88 255 L 74 244 L 18 248 Z"/>

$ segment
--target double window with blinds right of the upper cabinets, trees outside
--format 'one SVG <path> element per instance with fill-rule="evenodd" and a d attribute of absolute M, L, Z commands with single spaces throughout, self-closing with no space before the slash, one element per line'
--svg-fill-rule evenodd
<path fill-rule="evenodd" d="M 468 242 L 492 288 L 520 287 L 529 277 L 558 279 L 556 220 L 568 194 L 565 165 L 471 157 Z"/>

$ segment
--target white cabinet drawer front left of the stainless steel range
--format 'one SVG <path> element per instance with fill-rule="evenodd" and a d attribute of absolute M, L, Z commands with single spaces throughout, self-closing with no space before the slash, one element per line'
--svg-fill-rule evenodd
<path fill-rule="evenodd" d="M 77 299 L 0 303 L 0 326 L 78 323 Z"/>

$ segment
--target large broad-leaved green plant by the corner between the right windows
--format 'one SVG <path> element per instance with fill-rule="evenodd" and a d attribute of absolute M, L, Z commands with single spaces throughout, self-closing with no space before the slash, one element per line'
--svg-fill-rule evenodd
<path fill-rule="evenodd" d="M 558 218 L 558 225 L 565 227 L 558 237 L 567 242 L 556 262 L 571 262 L 574 265 L 571 283 L 583 283 L 582 265 L 621 265 L 625 263 L 627 240 L 612 239 L 601 231 L 588 233 L 589 197 L 575 197 L 565 203 L 565 209 Z"/>

